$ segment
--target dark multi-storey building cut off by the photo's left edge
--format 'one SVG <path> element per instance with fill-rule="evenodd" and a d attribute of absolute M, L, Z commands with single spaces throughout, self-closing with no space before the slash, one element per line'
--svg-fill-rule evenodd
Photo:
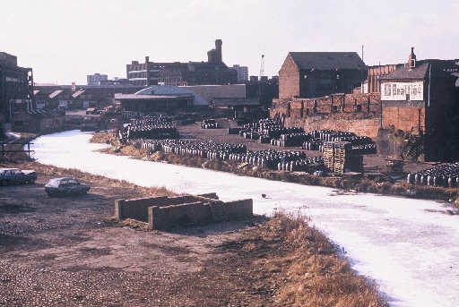
<path fill-rule="evenodd" d="M 12 124 L 14 110 L 33 107 L 33 72 L 18 66 L 17 57 L 0 52 L 0 126 Z"/>

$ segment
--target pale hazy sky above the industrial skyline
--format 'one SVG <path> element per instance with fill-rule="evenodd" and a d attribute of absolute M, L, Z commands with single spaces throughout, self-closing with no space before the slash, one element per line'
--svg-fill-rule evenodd
<path fill-rule="evenodd" d="M 126 64 L 223 62 L 277 75 L 290 51 L 355 51 L 368 65 L 459 58 L 459 0 L 2 0 L 0 51 L 36 82 L 126 78 Z"/>

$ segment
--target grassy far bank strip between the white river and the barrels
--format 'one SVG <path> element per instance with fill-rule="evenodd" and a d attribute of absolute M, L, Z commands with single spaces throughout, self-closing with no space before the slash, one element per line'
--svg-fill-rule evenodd
<path fill-rule="evenodd" d="M 118 147 L 120 145 L 117 138 L 111 132 L 95 133 L 91 142 L 111 144 L 113 147 Z M 447 189 L 443 187 L 412 185 L 406 182 L 395 183 L 391 178 L 385 175 L 373 177 L 366 177 L 364 175 L 335 175 L 322 177 L 306 173 L 278 172 L 259 166 L 238 167 L 237 164 L 221 159 L 178 156 L 173 153 L 164 153 L 162 151 L 151 154 L 147 149 L 137 149 L 132 145 L 121 147 L 117 153 L 113 151 L 113 148 L 101 149 L 100 151 L 108 154 L 130 156 L 155 162 L 167 162 L 181 166 L 208 168 L 236 175 L 247 175 L 268 180 L 318 185 L 343 190 L 354 190 L 357 192 L 371 192 L 427 200 L 455 200 L 459 197 L 459 189 L 457 188 Z M 408 190 L 411 190 L 411 192 L 409 193 Z M 459 209 L 457 202 L 456 206 Z"/>

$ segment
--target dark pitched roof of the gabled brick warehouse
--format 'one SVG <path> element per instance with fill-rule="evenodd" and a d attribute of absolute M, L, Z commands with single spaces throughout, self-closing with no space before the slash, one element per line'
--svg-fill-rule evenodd
<path fill-rule="evenodd" d="M 356 52 L 290 52 L 299 69 L 364 69 L 365 63 Z"/>

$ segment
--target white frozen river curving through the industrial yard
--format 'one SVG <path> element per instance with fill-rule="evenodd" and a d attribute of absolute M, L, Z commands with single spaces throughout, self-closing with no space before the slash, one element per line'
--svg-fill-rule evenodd
<path fill-rule="evenodd" d="M 94 152 L 87 132 L 40 137 L 33 149 L 43 164 L 72 167 L 175 192 L 217 192 L 221 200 L 252 198 L 258 214 L 300 211 L 338 243 L 353 269 L 375 279 L 391 306 L 459 306 L 459 216 L 432 200 L 281 183 L 228 173 L 154 163 Z M 263 199 L 265 193 L 269 199 Z"/>

